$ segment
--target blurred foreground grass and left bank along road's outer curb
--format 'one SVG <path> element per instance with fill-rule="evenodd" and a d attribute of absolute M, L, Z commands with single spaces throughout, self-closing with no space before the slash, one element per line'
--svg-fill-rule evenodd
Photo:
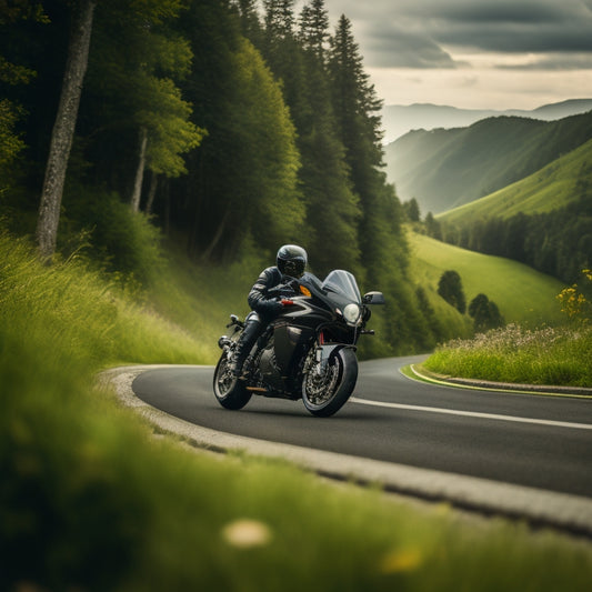
<path fill-rule="evenodd" d="M 160 275 L 162 299 L 177 273 Z M 203 287 L 200 309 L 222 280 L 202 270 L 171 298 L 189 317 L 188 293 Z M 140 297 L 81 262 L 42 267 L 0 235 L 0 589 L 589 589 L 589 543 L 154 438 L 94 373 L 209 361 L 214 330 L 200 310 L 181 329 Z"/>

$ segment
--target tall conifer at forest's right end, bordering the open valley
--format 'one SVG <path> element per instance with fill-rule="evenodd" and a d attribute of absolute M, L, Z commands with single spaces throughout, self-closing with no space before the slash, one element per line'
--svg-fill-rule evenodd
<path fill-rule="evenodd" d="M 362 56 L 345 16 L 340 18 L 331 39 L 328 69 L 338 130 L 345 148 L 353 191 L 360 198 L 362 214 L 358 232 L 367 281 L 389 297 L 383 312 L 379 313 L 379 322 L 383 323 L 380 330 L 393 353 L 401 343 L 414 343 L 421 349 L 430 331 L 405 277 L 409 249 L 402 227 L 402 207 L 381 170 L 379 112 L 382 103 L 364 72 Z"/>

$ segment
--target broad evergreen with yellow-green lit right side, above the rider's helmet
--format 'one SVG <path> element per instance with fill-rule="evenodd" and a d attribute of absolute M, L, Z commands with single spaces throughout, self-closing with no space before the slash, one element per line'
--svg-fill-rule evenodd
<path fill-rule="evenodd" d="M 299 153 L 279 84 L 228 3 L 193 2 L 181 26 L 194 54 L 184 89 L 209 133 L 175 185 L 189 250 L 220 260 L 235 257 L 250 235 L 269 250 L 295 240 Z"/>

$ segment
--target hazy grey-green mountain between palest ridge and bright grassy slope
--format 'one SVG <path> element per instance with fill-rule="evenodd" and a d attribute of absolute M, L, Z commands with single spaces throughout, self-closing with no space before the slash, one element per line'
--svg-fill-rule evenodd
<path fill-rule="evenodd" d="M 592 112 L 559 121 L 516 117 L 413 131 L 385 149 L 387 174 L 407 201 L 441 213 L 541 170 L 592 138 Z"/>

